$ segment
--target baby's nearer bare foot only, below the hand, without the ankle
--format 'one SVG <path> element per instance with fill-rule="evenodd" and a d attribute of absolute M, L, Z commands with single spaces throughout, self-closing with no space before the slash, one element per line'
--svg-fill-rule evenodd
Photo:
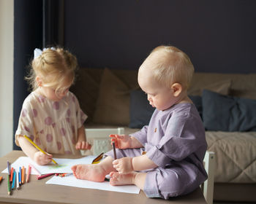
<path fill-rule="evenodd" d="M 135 172 L 131 173 L 118 173 L 118 172 L 110 172 L 110 185 L 112 186 L 122 186 L 135 184 Z"/>

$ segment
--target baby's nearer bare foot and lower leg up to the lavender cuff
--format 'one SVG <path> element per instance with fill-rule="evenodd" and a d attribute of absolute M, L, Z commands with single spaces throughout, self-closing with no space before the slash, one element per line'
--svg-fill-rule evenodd
<path fill-rule="evenodd" d="M 147 175 L 146 173 L 138 173 L 135 171 L 131 173 L 111 172 L 110 184 L 112 186 L 135 184 L 138 188 L 143 190 L 145 180 L 146 180 L 146 175 Z"/>

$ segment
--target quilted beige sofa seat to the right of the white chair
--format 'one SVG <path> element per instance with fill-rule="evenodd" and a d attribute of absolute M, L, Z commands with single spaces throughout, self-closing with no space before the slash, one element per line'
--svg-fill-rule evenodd
<path fill-rule="evenodd" d="M 214 182 L 256 183 L 256 132 L 206 131 L 206 141 L 215 152 Z"/>

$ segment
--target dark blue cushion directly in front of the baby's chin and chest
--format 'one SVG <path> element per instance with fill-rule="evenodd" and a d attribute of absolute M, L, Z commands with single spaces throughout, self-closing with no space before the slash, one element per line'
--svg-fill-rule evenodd
<path fill-rule="evenodd" d="M 141 128 L 148 125 L 154 108 L 148 103 L 147 95 L 140 89 L 132 90 L 129 103 L 129 127 Z"/>

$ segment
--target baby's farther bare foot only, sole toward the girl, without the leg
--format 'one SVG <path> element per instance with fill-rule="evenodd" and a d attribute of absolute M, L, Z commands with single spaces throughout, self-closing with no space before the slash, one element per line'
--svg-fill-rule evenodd
<path fill-rule="evenodd" d="M 105 180 L 107 173 L 101 165 L 73 165 L 72 171 L 75 178 L 102 182 Z"/>

